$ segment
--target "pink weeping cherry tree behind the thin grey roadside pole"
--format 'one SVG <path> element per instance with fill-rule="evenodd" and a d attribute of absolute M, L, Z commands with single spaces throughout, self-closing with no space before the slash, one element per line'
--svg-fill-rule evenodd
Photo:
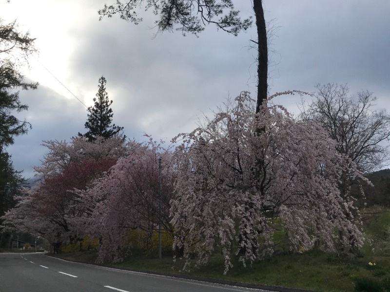
<path fill-rule="evenodd" d="M 159 159 L 162 161 L 162 195 L 159 196 Z M 128 155 L 110 172 L 83 191 L 80 197 L 96 202 L 92 217 L 85 217 L 88 233 L 99 238 L 98 261 L 120 261 L 131 246 L 126 242 L 132 230 L 156 232 L 159 220 L 171 235 L 170 201 L 175 171 L 171 151 L 152 139 L 133 144 Z M 159 203 L 161 202 L 161 207 Z M 173 236 L 172 236 L 173 237 Z"/>

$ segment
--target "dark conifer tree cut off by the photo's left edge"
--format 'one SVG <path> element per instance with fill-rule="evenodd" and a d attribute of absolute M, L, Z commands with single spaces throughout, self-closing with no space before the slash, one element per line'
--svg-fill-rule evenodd
<path fill-rule="evenodd" d="M 27 133 L 31 128 L 15 112 L 28 109 L 20 102 L 18 90 L 36 89 L 38 85 L 25 82 L 20 73 L 27 56 L 36 51 L 34 40 L 28 32 L 18 31 L 16 21 L 7 24 L 0 18 L 0 216 L 14 206 L 13 196 L 23 181 L 5 147 L 12 145 L 16 136 Z"/>

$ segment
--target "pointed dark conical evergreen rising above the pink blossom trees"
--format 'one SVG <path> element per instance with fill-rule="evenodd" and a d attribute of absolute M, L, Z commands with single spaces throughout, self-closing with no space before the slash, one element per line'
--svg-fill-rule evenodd
<path fill-rule="evenodd" d="M 86 137 L 88 141 L 94 141 L 98 136 L 103 138 L 111 138 L 120 135 L 123 127 L 116 126 L 112 123 L 113 110 L 111 105 L 112 100 L 108 99 L 106 91 L 106 78 L 101 76 L 99 78 L 98 93 L 94 98 L 95 105 L 88 108 L 88 121 L 85 123 L 85 128 L 88 131 L 85 134 L 78 133 L 80 137 Z"/>

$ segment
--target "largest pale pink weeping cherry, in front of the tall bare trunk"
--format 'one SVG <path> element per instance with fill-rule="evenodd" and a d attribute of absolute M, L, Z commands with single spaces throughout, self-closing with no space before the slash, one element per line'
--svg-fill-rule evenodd
<path fill-rule="evenodd" d="M 182 140 L 171 222 L 186 267 L 194 251 L 201 265 L 220 249 L 225 273 L 234 254 L 244 264 L 272 254 L 274 218 L 295 250 L 362 245 L 358 211 L 338 182 L 345 171 L 363 175 L 321 125 L 296 122 L 272 104 L 274 96 L 294 93 L 303 94 L 277 93 L 255 114 L 256 101 L 243 92 L 205 125 L 176 138 Z"/>

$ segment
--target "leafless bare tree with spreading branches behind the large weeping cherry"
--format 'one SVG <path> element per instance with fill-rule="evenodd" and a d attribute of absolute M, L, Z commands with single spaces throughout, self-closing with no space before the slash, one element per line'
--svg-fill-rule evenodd
<path fill-rule="evenodd" d="M 323 125 L 337 143 L 337 151 L 346 154 L 361 171 L 372 172 L 388 163 L 390 115 L 375 110 L 376 97 L 369 91 L 349 94 L 347 85 L 317 84 L 312 103 L 303 107 L 301 117 Z"/>

